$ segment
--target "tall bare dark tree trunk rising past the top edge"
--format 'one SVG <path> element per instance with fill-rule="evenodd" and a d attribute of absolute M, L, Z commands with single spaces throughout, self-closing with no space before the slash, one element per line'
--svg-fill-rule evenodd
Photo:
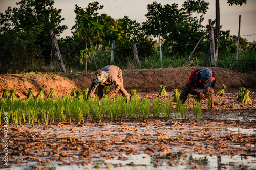
<path fill-rule="evenodd" d="M 218 59 L 221 58 L 221 36 L 220 36 L 220 0 L 215 0 L 215 17 L 216 17 L 216 39 L 217 39 L 217 54 Z"/>

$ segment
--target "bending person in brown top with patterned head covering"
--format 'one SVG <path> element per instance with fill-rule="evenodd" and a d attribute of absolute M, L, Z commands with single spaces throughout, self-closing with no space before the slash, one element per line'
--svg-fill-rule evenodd
<path fill-rule="evenodd" d="M 95 72 L 95 78 L 93 79 L 91 87 L 87 93 L 87 99 L 93 97 L 93 93 L 97 86 L 99 86 L 97 95 L 99 96 L 99 99 L 102 99 L 104 87 L 110 86 L 111 84 L 116 85 L 116 88 L 110 97 L 116 95 L 119 90 L 122 95 L 129 95 L 123 87 L 122 70 L 115 65 L 108 65 Z"/>

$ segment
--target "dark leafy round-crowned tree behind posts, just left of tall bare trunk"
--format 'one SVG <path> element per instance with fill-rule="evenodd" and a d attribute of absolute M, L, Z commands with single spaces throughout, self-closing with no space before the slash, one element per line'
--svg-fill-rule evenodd
<path fill-rule="evenodd" d="M 193 48 L 191 44 L 198 41 L 198 37 L 202 36 L 203 15 L 199 19 L 192 17 L 193 12 L 205 14 L 208 4 L 203 0 L 185 1 L 183 8 L 178 9 L 178 4 L 166 4 L 162 6 L 157 2 L 153 2 L 147 6 L 148 13 L 145 15 L 147 20 L 143 23 L 143 28 L 147 35 L 156 37 L 160 34 L 165 42 L 165 46 L 171 46 L 173 56 L 175 51 L 186 54 Z M 170 51 L 169 47 L 167 51 Z M 176 46 L 176 47 L 175 47 Z M 181 48 L 180 46 L 183 46 Z M 189 47 L 190 46 L 190 47 Z"/>

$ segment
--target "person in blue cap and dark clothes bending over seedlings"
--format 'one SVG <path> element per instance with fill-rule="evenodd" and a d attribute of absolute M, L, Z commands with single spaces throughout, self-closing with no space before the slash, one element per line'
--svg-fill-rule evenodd
<path fill-rule="evenodd" d="M 206 98 L 213 98 L 212 102 L 214 102 L 214 90 L 208 90 L 211 95 L 205 95 L 201 92 L 196 91 L 195 89 L 201 88 L 201 89 L 207 89 L 208 87 L 214 88 L 216 83 L 216 75 L 214 72 L 212 72 L 209 68 L 205 69 L 195 69 L 191 72 L 191 74 L 188 76 L 188 81 L 185 84 L 185 87 L 183 88 L 181 94 L 180 94 L 180 100 L 182 100 L 183 103 L 187 100 L 188 94 L 191 95 L 197 95 L 201 100 Z M 210 89 L 210 88 L 208 88 Z M 207 90 L 206 90 L 207 91 Z M 212 103 L 213 106 L 213 103 Z"/>

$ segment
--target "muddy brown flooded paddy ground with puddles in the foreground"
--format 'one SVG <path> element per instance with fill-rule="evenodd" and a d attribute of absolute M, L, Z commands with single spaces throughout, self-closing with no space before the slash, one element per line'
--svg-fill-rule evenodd
<path fill-rule="evenodd" d="M 203 101 L 202 118 L 187 109 L 187 118 L 10 124 L 7 169 L 256 169 L 256 95 L 252 104 L 236 95 L 218 96 L 210 110 Z"/>

